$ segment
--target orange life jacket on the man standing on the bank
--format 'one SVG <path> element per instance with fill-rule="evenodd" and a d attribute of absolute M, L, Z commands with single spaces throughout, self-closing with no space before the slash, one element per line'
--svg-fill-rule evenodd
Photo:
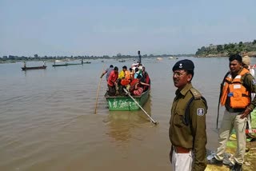
<path fill-rule="evenodd" d="M 222 88 L 221 105 L 225 105 L 227 97 L 230 97 L 230 107 L 233 109 L 246 108 L 250 104 L 250 92 L 241 82 L 242 76 L 248 73 L 250 72 L 243 68 L 233 80 L 231 74 L 226 76 Z"/>

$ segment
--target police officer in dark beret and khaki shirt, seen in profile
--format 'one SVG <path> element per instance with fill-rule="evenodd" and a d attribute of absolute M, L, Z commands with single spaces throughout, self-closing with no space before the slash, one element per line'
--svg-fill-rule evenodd
<path fill-rule="evenodd" d="M 174 171 L 206 169 L 207 103 L 191 84 L 194 63 L 188 59 L 173 67 L 174 86 L 178 89 L 171 108 L 169 137 L 170 162 Z"/>

